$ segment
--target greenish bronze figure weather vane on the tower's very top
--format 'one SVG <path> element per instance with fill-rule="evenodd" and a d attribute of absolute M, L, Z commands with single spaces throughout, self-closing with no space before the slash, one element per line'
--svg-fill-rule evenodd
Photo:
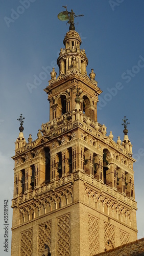
<path fill-rule="evenodd" d="M 66 9 L 66 11 L 60 12 L 60 13 L 58 14 L 58 18 L 59 18 L 60 20 L 64 20 L 64 21 L 65 21 L 65 20 L 68 20 L 68 23 L 70 24 L 69 30 L 75 30 L 74 19 L 75 19 L 76 17 L 80 17 L 80 16 L 84 16 L 84 15 L 83 15 L 83 14 L 81 14 L 81 15 L 75 15 L 75 13 L 73 12 L 72 9 L 71 9 L 71 12 L 68 12 L 66 6 L 62 6 L 62 7 L 64 7 L 64 8 Z"/>

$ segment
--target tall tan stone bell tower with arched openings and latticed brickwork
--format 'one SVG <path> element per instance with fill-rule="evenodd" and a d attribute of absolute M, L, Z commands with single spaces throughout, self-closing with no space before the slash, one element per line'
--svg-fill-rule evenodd
<path fill-rule="evenodd" d="M 70 26 L 73 25 L 70 23 Z M 50 121 L 15 142 L 11 256 L 85 256 L 137 239 L 132 144 L 106 136 L 102 93 L 75 27 L 66 33 L 49 85 Z"/>

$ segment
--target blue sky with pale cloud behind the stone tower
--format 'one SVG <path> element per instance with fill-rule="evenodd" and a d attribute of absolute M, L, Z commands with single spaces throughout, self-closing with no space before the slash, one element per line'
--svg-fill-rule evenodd
<path fill-rule="evenodd" d="M 129 139 L 133 144 L 135 196 L 138 206 L 138 238 L 144 236 L 144 1 L 141 0 L 6 0 L 1 2 L 1 100 L 0 100 L 0 203 L 11 205 L 13 189 L 15 140 L 18 137 L 20 113 L 25 117 L 24 136 L 37 138 L 41 124 L 49 121 L 49 102 L 43 89 L 56 67 L 63 38 L 68 31 L 66 22 L 57 14 L 73 9 L 77 17 L 76 31 L 82 38 L 81 48 L 103 93 L 98 104 L 98 121 L 112 131 L 114 140 L 123 140 L 122 119 L 126 116 Z M 78 23 L 78 24 L 77 24 Z M 44 68 L 49 72 L 41 77 Z M 59 70 L 56 67 L 58 74 Z M 34 84 L 34 78 L 39 78 Z M 31 83 L 35 88 L 28 88 Z M 119 87 L 117 86 L 119 84 Z M 142 148 L 142 150 L 140 150 Z M 9 210 L 9 223 L 12 223 Z M 3 247 L 3 215 L 0 241 Z M 7 254 L 8 255 L 8 254 Z M 9 251 L 10 255 L 10 251 Z"/>

